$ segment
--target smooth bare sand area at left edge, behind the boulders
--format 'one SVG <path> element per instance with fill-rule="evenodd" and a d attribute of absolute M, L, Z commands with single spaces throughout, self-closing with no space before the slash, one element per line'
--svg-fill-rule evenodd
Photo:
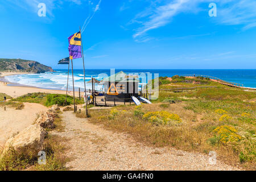
<path fill-rule="evenodd" d="M 25 107 L 22 110 L 7 107 L 4 111 L 3 107 L 0 107 L 0 147 L 14 134 L 32 125 L 36 119 L 36 113 L 47 110 L 47 107 L 40 104 L 23 104 Z"/>

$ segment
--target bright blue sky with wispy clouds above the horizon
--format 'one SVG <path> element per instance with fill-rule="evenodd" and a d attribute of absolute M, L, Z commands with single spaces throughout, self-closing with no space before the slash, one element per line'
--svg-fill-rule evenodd
<path fill-rule="evenodd" d="M 0 57 L 66 68 L 57 62 L 84 22 L 86 68 L 256 68 L 255 0 L 4 0 Z M 81 59 L 73 62 L 82 69 Z"/>

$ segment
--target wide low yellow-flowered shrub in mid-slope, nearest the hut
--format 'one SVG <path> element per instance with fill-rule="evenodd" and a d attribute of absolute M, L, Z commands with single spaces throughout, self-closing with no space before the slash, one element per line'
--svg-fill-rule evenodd
<path fill-rule="evenodd" d="M 158 125 L 167 125 L 169 123 L 181 123 L 181 119 L 177 114 L 171 114 L 168 111 L 147 112 L 143 115 L 144 119 Z"/>

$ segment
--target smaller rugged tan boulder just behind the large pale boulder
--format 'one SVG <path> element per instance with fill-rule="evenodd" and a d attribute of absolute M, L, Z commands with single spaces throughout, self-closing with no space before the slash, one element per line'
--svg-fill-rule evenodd
<path fill-rule="evenodd" d="M 53 121 L 56 115 L 50 112 L 41 112 L 39 114 L 39 118 L 36 119 L 36 123 L 43 127 L 44 129 L 52 129 L 53 128 Z"/>

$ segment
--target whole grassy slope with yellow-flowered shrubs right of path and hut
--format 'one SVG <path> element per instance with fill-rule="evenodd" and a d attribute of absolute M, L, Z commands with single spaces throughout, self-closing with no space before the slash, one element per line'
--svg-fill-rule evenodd
<path fill-rule="evenodd" d="M 203 77 L 175 76 L 171 84 L 167 81 L 160 88 L 209 85 L 218 87 L 179 93 L 160 91 L 152 105 L 91 110 L 90 122 L 130 133 L 150 145 L 204 154 L 216 151 L 227 164 L 255 170 L 256 92 L 231 88 Z"/>

